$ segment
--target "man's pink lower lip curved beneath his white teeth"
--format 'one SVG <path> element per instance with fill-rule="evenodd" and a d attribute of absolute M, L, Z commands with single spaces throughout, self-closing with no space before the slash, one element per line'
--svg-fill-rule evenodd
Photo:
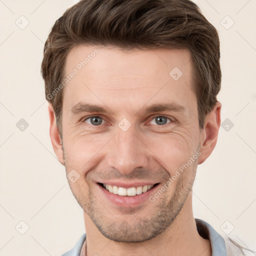
<path fill-rule="evenodd" d="M 152 195 L 155 189 L 157 189 L 157 187 L 159 186 L 159 184 L 157 184 L 148 191 L 141 194 L 136 194 L 134 196 L 125 196 L 110 193 L 108 190 L 106 190 L 98 183 L 96 183 L 96 185 L 100 188 L 101 192 L 103 193 L 103 196 L 105 196 L 111 203 L 121 207 L 135 207 L 140 205 L 141 203 L 147 201 L 149 199 L 149 196 Z"/>

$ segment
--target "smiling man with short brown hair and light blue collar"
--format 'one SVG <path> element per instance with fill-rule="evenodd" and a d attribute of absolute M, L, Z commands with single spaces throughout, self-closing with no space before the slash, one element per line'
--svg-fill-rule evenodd
<path fill-rule="evenodd" d="M 81 0 L 55 22 L 50 138 L 86 228 L 63 255 L 244 255 L 192 214 L 220 125 L 219 57 L 189 0 Z"/>

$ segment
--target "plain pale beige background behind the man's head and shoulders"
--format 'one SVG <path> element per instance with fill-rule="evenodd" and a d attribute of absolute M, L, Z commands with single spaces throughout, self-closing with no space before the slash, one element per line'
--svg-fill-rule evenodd
<path fill-rule="evenodd" d="M 2 256 L 60 255 L 84 232 L 82 210 L 50 143 L 40 76 L 49 29 L 75 2 L 0 0 Z M 208 221 L 221 235 L 234 227 L 229 236 L 255 250 L 256 1 L 195 2 L 219 31 L 222 89 L 218 99 L 222 102 L 222 121 L 228 118 L 234 126 L 229 125 L 228 131 L 226 124 L 220 127 L 214 152 L 198 166 L 194 216 Z M 16 127 L 21 118 L 28 123 L 23 131 Z M 25 231 L 26 224 L 20 221 L 29 226 L 24 234 L 20 232 Z"/>

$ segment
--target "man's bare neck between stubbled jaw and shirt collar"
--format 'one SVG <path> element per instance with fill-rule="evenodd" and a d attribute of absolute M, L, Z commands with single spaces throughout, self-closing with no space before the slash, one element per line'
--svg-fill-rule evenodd
<path fill-rule="evenodd" d="M 172 224 L 154 238 L 143 242 L 127 243 L 110 240 L 99 232 L 89 216 L 84 213 L 87 241 L 86 256 L 210 256 L 210 241 L 202 238 L 197 232 L 192 214 L 191 193 L 192 191 L 190 191 L 182 209 Z M 81 255 L 85 255 L 85 253 Z"/>

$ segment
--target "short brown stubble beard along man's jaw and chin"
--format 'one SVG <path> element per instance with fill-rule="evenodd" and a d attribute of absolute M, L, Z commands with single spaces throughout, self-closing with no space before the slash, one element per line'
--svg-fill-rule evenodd
<path fill-rule="evenodd" d="M 63 146 L 62 150 L 64 152 Z M 70 170 L 66 168 L 68 166 L 66 160 L 65 158 L 64 165 L 66 173 L 68 173 Z M 85 187 L 81 188 L 79 193 L 75 192 L 71 186 L 70 189 L 78 204 L 91 218 L 102 235 L 118 242 L 142 242 L 152 239 L 171 226 L 192 189 L 196 166 L 197 161 L 185 170 L 186 173 L 181 173 L 175 180 L 177 182 L 175 191 L 170 199 L 168 199 L 168 189 L 166 189 L 154 202 L 148 200 L 148 203 L 152 203 L 152 212 L 149 212 L 150 217 L 146 216 L 148 214 L 145 215 L 142 207 L 142 209 L 135 211 L 131 208 L 128 210 L 129 212 L 126 209 L 126 214 L 120 219 L 120 214 L 114 216 L 108 206 L 103 206 L 102 202 L 99 202 L 96 196 L 90 190 L 86 190 Z M 171 185 L 169 189 L 171 189 Z M 148 210 L 146 212 L 148 213 Z M 141 213 L 145 216 L 141 216 Z"/>

